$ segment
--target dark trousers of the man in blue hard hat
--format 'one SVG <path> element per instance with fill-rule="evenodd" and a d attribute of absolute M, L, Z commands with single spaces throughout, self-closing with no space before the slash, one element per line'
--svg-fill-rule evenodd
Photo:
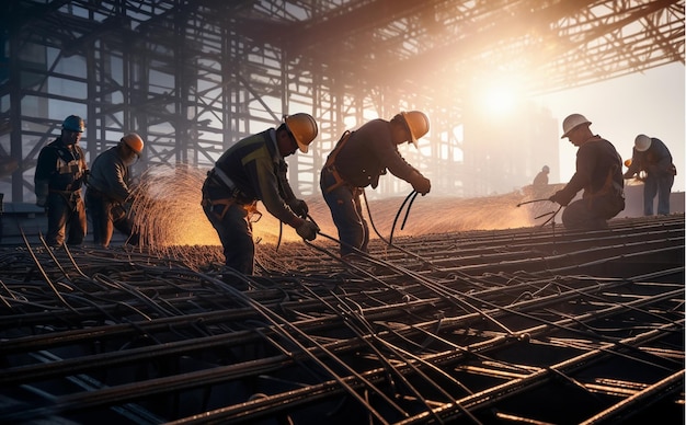
<path fill-rule="evenodd" d="M 72 194 L 50 192 L 45 203 L 47 208 L 47 234 L 49 246 L 80 245 L 85 238 L 85 206 L 80 191 Z"/>

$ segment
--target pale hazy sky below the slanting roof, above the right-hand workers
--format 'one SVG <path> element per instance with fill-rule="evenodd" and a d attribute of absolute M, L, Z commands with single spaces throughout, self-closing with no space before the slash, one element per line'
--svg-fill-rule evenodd
<path fill-rule="evenodd" d="M 685 67 L 666 65 L 645 73 L 636 73 L 593 85 L 572 89 L 537 99 L 559 120 L 573 113 L 583 114 L 591 129 L 615 145 L 622 159 L 631 158 L 633 139 L 645 134 L 670 148 L 677 175 L 673 192 L 684 192 L 686 168 Z M 560 139 L 560 180 L 567 183 L 574 174 L 576 148 Z M 625 168 L 626 171 L 626 168 Z M 558 183 L 558 182 L 551 182 Z"/>

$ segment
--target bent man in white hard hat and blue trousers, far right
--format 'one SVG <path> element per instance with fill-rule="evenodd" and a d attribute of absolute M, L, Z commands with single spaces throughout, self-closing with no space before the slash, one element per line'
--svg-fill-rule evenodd
<path fill-rule="evenodd" d="M 670 196 L 676 175 L 672 153 L 662 140 L 638 135 L 633 141 L 631 161 L 625 179 L 637 176 L 643 181 L 643 214 L 653 215 L 653 202 L 658 196 L 658 214 L 670 214 Z"/>

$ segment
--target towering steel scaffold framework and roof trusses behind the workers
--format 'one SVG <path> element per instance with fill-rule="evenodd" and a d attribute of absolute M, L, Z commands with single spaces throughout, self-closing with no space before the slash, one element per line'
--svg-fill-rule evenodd
<path fill-rule="evenodd" d="M 123 133 L 141 134 L 148 149 L 139 166 L 208 166 L 283 114 L 311 113 L 319 140 L 312 154 L 290 160 L 307 195 L 318 192 L 338 137 L 369 114 L 427 112 L 430 142 L 403 154 L 438 176 L 454 172 L 466 93 L 484 70 L 529 70 L 522 88 L 536 94 L 684 64 L 683 0 L 7 0 L 0 8 L 0 153 L 19 161 L 0 187 L 12 202 L 33 200 L 38 151 L 72 113 L 87 118 L 91 159 Z M 454 191 L 455 180 L 438 179 L 436 191 Z M 386 180 L 378 194 L 402 187 Z"/>

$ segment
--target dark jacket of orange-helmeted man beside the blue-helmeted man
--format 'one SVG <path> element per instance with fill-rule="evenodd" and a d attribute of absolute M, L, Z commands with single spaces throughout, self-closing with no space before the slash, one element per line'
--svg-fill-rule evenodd
<path fill-rule="evenodd" d="M 123 203 L 130 195 L 130 169 L 122 159 L 118 147 L 112 147 L 95 158 L 88 185 L 108 198 Z"/>

